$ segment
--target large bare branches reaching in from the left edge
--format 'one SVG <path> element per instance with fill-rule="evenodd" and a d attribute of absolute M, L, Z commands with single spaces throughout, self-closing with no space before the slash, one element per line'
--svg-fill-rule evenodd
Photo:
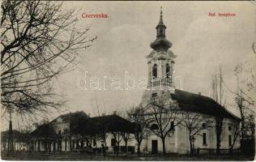
<path fill-rule="evenodd" d="M 59 2 L 5 0 L 1 7 L 2 109 L 20 115 L 60 109 L 53 78 L 96 38 L 88 37 L 90 28 L 79 31 L 74 10 L 63 11 Z"/>

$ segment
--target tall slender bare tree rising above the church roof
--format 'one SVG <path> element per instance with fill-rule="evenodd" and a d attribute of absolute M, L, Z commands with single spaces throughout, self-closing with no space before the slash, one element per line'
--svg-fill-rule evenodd
<path fill-rule="evenodd" d="M 212 97 L 218 102 L 221 106 L 224 106 L 224 88 L 223 88 L 223 75 L 221 66 L 219 69 L 219 73 L 213 75 L 211 80 L 211 88 L 212 88 Z M 217 108 L 216 108 L 217 109 Z M 218 114 L 215 116 L 215 132 L 216 132 L 216 154 L 220 155 L 220 143 L 221 143 L 221 134 L 223 132 L 224 125 L 224 117 L 223 114 Z"/>

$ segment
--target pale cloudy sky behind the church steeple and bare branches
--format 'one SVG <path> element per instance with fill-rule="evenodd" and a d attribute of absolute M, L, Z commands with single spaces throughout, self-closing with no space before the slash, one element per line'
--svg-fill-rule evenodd
<path fill-rule="evenodd" d="M 90 26 L 89 36 L 97 39 L 92 47 L 79 51 L 75 70 L 54 81 L 55 91 L 64 94 L 66 106 L 62 112 L 51 113 L 49 120 L 60 113 L 82 110 L 94 117 L 140 103 L 141 88 L 86 90 L 78 86 L 78 80 L 86 73 L 87 79 L 100 79 L 102 86 L 105 76 L 124 79 L 128 73 L 136 81 L 147 77 L 146 57 L 152 50 L 150 43 L 156 39 L 160 6 L 166 37 L 173 43 L 170 50 L 177 55 L 174 70 L 182 78 L 182 89 L 211 96 L 211 76 L 222 66 L 225 84 L 236 91 L 235 66 L 254 55 L 255 2 L 64 2 L 65 10 L 75 7 L 79 30 Z M 216 16 L 209 16 L 209 12 Z M 220 17 L 219 12 L 235 16 Z M 83 19 L 83 13 L 103 13 L 108 18 Z M 226 108 L 239 115 L 233 94 L 228 89 L 225 92 Z M 16 117 L 14 129 L 19 122 Z M 2 128 L 6 126 L 5 119 Z"/>

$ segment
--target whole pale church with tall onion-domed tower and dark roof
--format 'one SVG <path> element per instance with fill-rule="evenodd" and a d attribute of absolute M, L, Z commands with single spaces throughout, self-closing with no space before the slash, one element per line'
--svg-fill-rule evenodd
<path fill-rule="evenodd" d="M 177 57 L 166 38 L 163 13 L 156 26 L 156 40 L 147 55 L 148 81 L 140 106 L 148 120 L 142 152 L 188 154 L 214 153 L 217 149 L 216 119 L 221 118 L 220 151 L 240 147 L 240 118 L 210 97 L 175 89 L 173 69 Z M 164 102 L 160 99 L 165 99 Z M 158 105 L 152 104 L 158 100 Z M 154 108 L 155 107 L 155 108 Z M 164 139 L 164 141 L 163 141 Z M 164 145 L 164 147 L 163 147 Z"/>

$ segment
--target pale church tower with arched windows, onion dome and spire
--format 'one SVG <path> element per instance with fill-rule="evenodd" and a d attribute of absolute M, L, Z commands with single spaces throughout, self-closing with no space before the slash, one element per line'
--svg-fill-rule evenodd
<path fill-rule="evenodd" d="M 143 100 L 150 97 L 169 94 L 174 91 L 173 66 L 176 55 L 170 50 L 172 43 L 166 39 L 162 7 L 160 20 L 156 26 L 156 40 L 151 42 L 151 53 L 147 55 L 148 79 Z"/>

